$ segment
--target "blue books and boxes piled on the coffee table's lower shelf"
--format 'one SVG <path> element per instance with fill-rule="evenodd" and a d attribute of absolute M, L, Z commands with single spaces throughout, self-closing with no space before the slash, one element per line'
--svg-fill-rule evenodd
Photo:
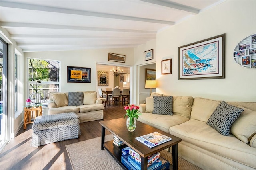
<path fill-rule="evenodd" d="M 130 147 L 122 149 L 121 162 L 129 170 L 141 170 L 140 155 Z M 167 170 L 170 168 L 170 162 L 160 157 L 159 153 L 148 156 L 148 170 Z"/>

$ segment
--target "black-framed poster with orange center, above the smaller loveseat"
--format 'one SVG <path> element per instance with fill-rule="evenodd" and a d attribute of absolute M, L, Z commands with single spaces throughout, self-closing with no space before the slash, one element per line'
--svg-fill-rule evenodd
<path fill-rule="evenodd" d="M 90 83 L 91 68 L 67 66 L 68 83 Z"/>

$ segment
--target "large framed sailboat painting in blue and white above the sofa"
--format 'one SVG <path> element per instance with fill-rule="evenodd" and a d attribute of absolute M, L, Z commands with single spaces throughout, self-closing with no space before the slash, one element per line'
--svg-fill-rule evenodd
<path fill-rule="evenodd" d="M 225 78 L 225 34 L 178 49 L 179 80 Z"/>

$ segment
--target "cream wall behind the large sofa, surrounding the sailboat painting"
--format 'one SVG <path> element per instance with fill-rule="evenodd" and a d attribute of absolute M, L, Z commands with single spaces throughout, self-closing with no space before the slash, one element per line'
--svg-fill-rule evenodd
<path fill-rule="evenodd" d="M 256 33 L 256 1 L 226 1 L 158 33 L 156 92 L 214 100 L 256 102 L 256 69 L 233 59 L 236 45 Z M 178 80 L 178 47 L 226 34 L 225 79 Z M 161 75 L 161 61 L 172 59 L 172 74 Z"/>

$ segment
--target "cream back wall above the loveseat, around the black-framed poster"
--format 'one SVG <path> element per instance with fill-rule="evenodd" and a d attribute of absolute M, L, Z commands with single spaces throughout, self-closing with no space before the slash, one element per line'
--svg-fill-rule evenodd
<path fill-rule="evenodd" d="M 108 53 L 126 55 L 125 63 L 108 61 Z M 96 91 L 97 71 L 96 62 L 112 63 L 113 65 L 133 65 L 134 50 L 133 48 L 120 49 L 91 49 L 76 51 L 49 51 L 49 52 L 30 52 L 24 53 L 25 59 L 52 59 L 60 61 L 60 91 Z M 91 83 L 67 83 L 67 66 L 88 67 L 91 68 Z M 24 74 L 26 75 L 26 64 Z M 25 78 L 26 80 L 26 78 Z M 27 92 L 26 92 L 27 93 Z"/>

